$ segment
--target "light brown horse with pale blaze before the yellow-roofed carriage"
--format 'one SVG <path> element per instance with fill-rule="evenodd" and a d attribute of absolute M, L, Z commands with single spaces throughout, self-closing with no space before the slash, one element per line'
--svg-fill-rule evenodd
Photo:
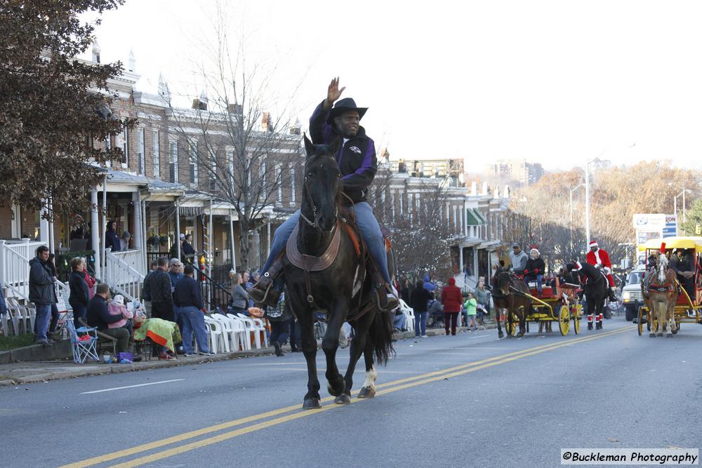
<path fill-rule="evenodd" d="M 668 267 L 668 258 L 664 253 L 658 255 L 656 265 L 647 274 L 644 281 L 644 297 L 649 306 L 649 323 L 651 338 L 663 336 L 667 328 L 668 337 L 677 333 L 675 323 L 675 302 L 677 302 L 678 286 L 675 272 Z"/>

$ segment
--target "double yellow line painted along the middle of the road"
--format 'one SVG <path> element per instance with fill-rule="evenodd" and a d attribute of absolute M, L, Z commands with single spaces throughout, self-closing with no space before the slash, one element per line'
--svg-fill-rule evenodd
<path fill-rule="evenodd" d="M 534 356 L 535 354 L 541 354 L 541 353 L 553 351 L 554 349 L 558 349 L 561 347 L 572 346 L 572 345 L 576 345 L 576 344 L 583 343 L 583 342 L 588 342 L 588 341 L 592 341 L 592 340 L 599 340 L 601 338 L 609 337 L 612 335 L 618 335 L 619 333 L 625 333 L 627 331 L 630 331 L 632 328 L 633 328 L 632 326 L 618 328 L 617 330 L 612 330 L 612 331 L 605 332 L 605 333 L 598 333 L 597 335 L 590 335 L 587 337 L 578 337 L 578 338 L 574 338 L 572 340 L 567 340 L 564 342 L 557 342 L 557 343 L 552 343 L 550 345 L 542 345 L 542 346 L 537 346 L 537 347 L 533 347 L 533 348 L 522 349 L 520 351 L 510 352 L 507 354 L 501 354 L 500 356 L 495 356 L 495 357 L 491 357 L 488 359 L 482 359 L 480 361 L 461 364 L 460 366 L 454 366 L 451 368 L 437 370 L 435 372 L 425 373 L 422 375 L 415 375 L 413 377 L 406 377 L 404 379 L 399 379 L 399 380 L 395 380 L 395 381 L 388 382 L 385 384 L 376 385 L 376 389 L 379 389 L 379 391 L 376 392 L 376 395 L 380 396 L 380 395 L 384 395 L 384 394 L 389 394 L 392 392 L 397 392 L 398 390 L 408 389 L 411 387 L 417 387 L 418 385 L 425 385 L 425 384 L 428 384 L 431 382 L 435 382 L 437 380 L 444 380 L 444 379 L 449 378 L 449 377 L 458 377 L 458 375 L 464 375 L 467 373 L 475 372 L 476 370 L 481 370 L 481 369 L 489 368 L 492 366 L 498 366 L 500 364 L 509 363 L 509 362 L 515 361 L 517 359 L 522 359 L 522 358 L 525 358 L 528 356 Z M 326 397 L 326 398 L 322 399 L 322 403 L 329 403 L 329 402 L 333 401 L 333 399 L 334 399 L 333 396 Z M 356 402 L 356 401 L 363 401 L 363 400 L 354 398 L 351 401 Z M 118 450 L 117 452 L 107 453 L 105 455 L 100 455 L 98 457 L 88 458 L 87 460 L 82 460 L 79 462 L 66 464 L 62 468 L 90 467 L 90 466 L 93 466 L 95 464 L 111 462 L 112 460 L 117 460 L 119 458 L 128 457 L 131 455 L 137 455 L 138 453 L 144 453 L 144 452 L 147 452 L 149 450 L 154 450 L 157 448 L 171 445 L 173 443 L 183 442 L 183 441 L 187 441 L 189 439 L 194 439 L 194 438 L 199 437 L 199 436 L 205 436 L 207 434 L 219 432 L 219 431 L 222 431 L 224 429 L 230 429 L 232 427 L 241 426 L 242 424 L 248 424 L 249 422 L 255 422 L 258 420 L 265 420 L 263 422 L 258 422 L 256 424 L 252 424 L 252 425 L 246 426 L 246 427 L 241 427 L 239 429 L 235 429 L 235 430 L 230 431 L 230 432 L 224 432 L 223 434 L 211 436 L 208 439 L 201 439 L 198 441 L 186 443 L 184 445 L 175 446 L 173 448 L 168 448 L 166 450 L 152 453 L 151 455 L 145 455 L 143 457 L 138 457 L 138 458 L 135 458 L 133 460 L 128 460 L 126 462 L 113 465 L 114 467 L 137 467 L 137 466 L 140 466 L 142 464 L 154 462 L 156 460 L 162 460 L 164 458 L 172 457 L 172 456 L 178 455 L 180 453 L 185 453 L 185 452 L 188 452 L 190 450 L 194 450 L 196 448 L 202 448 L 205 446 L 209 446 L 213 443 L 219 443 L 222 441 L 226 441 L 228 439 L 232 439 L 232 438 L 237 437 L 237 436 L 241 436 L 243 434 L 249 434 L 251 432 L 256 432 L 256 431 L 259 431 L 261 429 L 266 429 L 267 427 L 272 427 L 272 426 L 275 426 L 277 424 L 283 424 L 284 422 L 297 420 L 297 419 L 300 419 L 302 417 L 316 415 L 317 413 L 322 413 L 323 411 L 329 411 L 329 410 L 333 410 L 333 409 L 339 407 L 338 405 L 330 403 L 330 404 L 327 404 L 325 406 L 322 406 L 322 408 L 319 408 L 317 410 L 303 411 L 303 410 L 300 410 L 300 406 L 301 406 L 300 404 L 293 405 L 293 406 L 286 406 L 285 408 L 279 408 L 277 410 L 267 411 L 265 413 L 260 413 L 258 415 L 241 417 L 237 420 L 223 422 L 222 424 L 215 424 L 213 426 L 204 427 L 202 429 L 197 429 L 195 431 L 184 432 L 183 434 L 178 434 L 176 436 L 168 437 L 166 439 L 161 439 L 159 441 L 145 443 L 143 445 L 136 446 L 133 448 L 126 448 L 124 450 Z M 291 413 L 291 411 L 296 411 L 296 412 Z M 285 415 L 285 413 L 291 413 L 291 414 Z M 274 417 L 274 419 L 268 420 L 268 418 L 270 418 L 270 417 Z"/>

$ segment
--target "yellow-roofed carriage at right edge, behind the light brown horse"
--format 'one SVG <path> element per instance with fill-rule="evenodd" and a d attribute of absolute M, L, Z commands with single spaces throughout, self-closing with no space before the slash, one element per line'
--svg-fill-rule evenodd
<path fill-rule="evenodd" d="M 673 306 L 673 320 L 675 321 L 672 333 L 677 333 L 680 323 L 702 323 L 702 237 L 665 237 L 663 239 L 650 239 L 643 248 L 646 250 L 646 273 L 642 278 L 642 289 L 645 289 L 646 276 L 651 275 L 649 281 L 655 281 L 656 257 L 666 255 L 673 258 L 677 255 L 677 250 L 682 251 L 683 260 L 687 262 L 691 275 L 687 281 L 681 282 L 678 278 L 673 281 L 673 287 L 677 290 L 675 305 Z M 670 262 L 678 261 L 673 258 Z M 673 278 L 673 275 L 670 276 Z M 684 278 L 684 276 L 683 276 Z M 661 288 L 662 290 L 662 288 Z M 656 290 L 653 290 L 656 293 Z M 656 319 L 649 321 L 651 312 L 651 300 L 645 295 L 651 295 L 651 290 L 644 292 L 644 305 L 639 308 L 638 313 L 638 333 L 644 332 L 644 323 L 649 331 L 659 330 Z M 662 333 L 661 333 L 662 334 Z"/>

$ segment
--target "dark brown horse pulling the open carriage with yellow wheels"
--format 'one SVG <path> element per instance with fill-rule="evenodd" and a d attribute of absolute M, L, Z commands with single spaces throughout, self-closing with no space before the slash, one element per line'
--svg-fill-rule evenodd
<path fill-rule="evenodd" d="M 502 327 L 500 326 L 500 312 L 503 309 L 507 310 L 505 315 L 505 329 L 508 336 L 510 330 L 515 327 L 515 319 L 519 320 L 519 337 L 527 333 L 527 314 L 531 310 L 531 298 L 525 294 L 529 294 L 529 286 L 524 281 L 513 277 L 510 272 L 500 271 L 495 276 L 495 288 L 492 293 L 492 299 L 495 302 L 496 321 L 498 337 L 503 337 Z"/>

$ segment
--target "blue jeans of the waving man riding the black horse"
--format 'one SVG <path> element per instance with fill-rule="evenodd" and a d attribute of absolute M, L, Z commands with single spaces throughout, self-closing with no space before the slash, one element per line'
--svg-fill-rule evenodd
<path fill-rule="evenodd" d="M 365 201 L 356 203 L 354 209 L 356 211 L 356 222 L 359 229 L 361 229 L 361 235 L 363 236 L 363 240 L 366 241 L 371 257 L 373 257 L 376 265 L 378 265 L 380 274 L 383 275 L 385 282 L 390 284 L 388 257 L 385 255 L 385 239 L 383 239 L 383 232 L 380 231 L 378 220 L 376 220 L 375 215 L 373 215 L 373 209 Z M 263 272 L 267 272 L 270 269 L 273 260 L 283 251 L 285 244 L 288 243 L 288 239 L 290 239 L 290 234 L 293 233 L 293 229 L 298 225 L 298 222 L 300 222 L 300 210 L 293 213 L 290 218 L 275 230 L 268 260 L 265 262 L 265 265 L 263 265 Z"/>

